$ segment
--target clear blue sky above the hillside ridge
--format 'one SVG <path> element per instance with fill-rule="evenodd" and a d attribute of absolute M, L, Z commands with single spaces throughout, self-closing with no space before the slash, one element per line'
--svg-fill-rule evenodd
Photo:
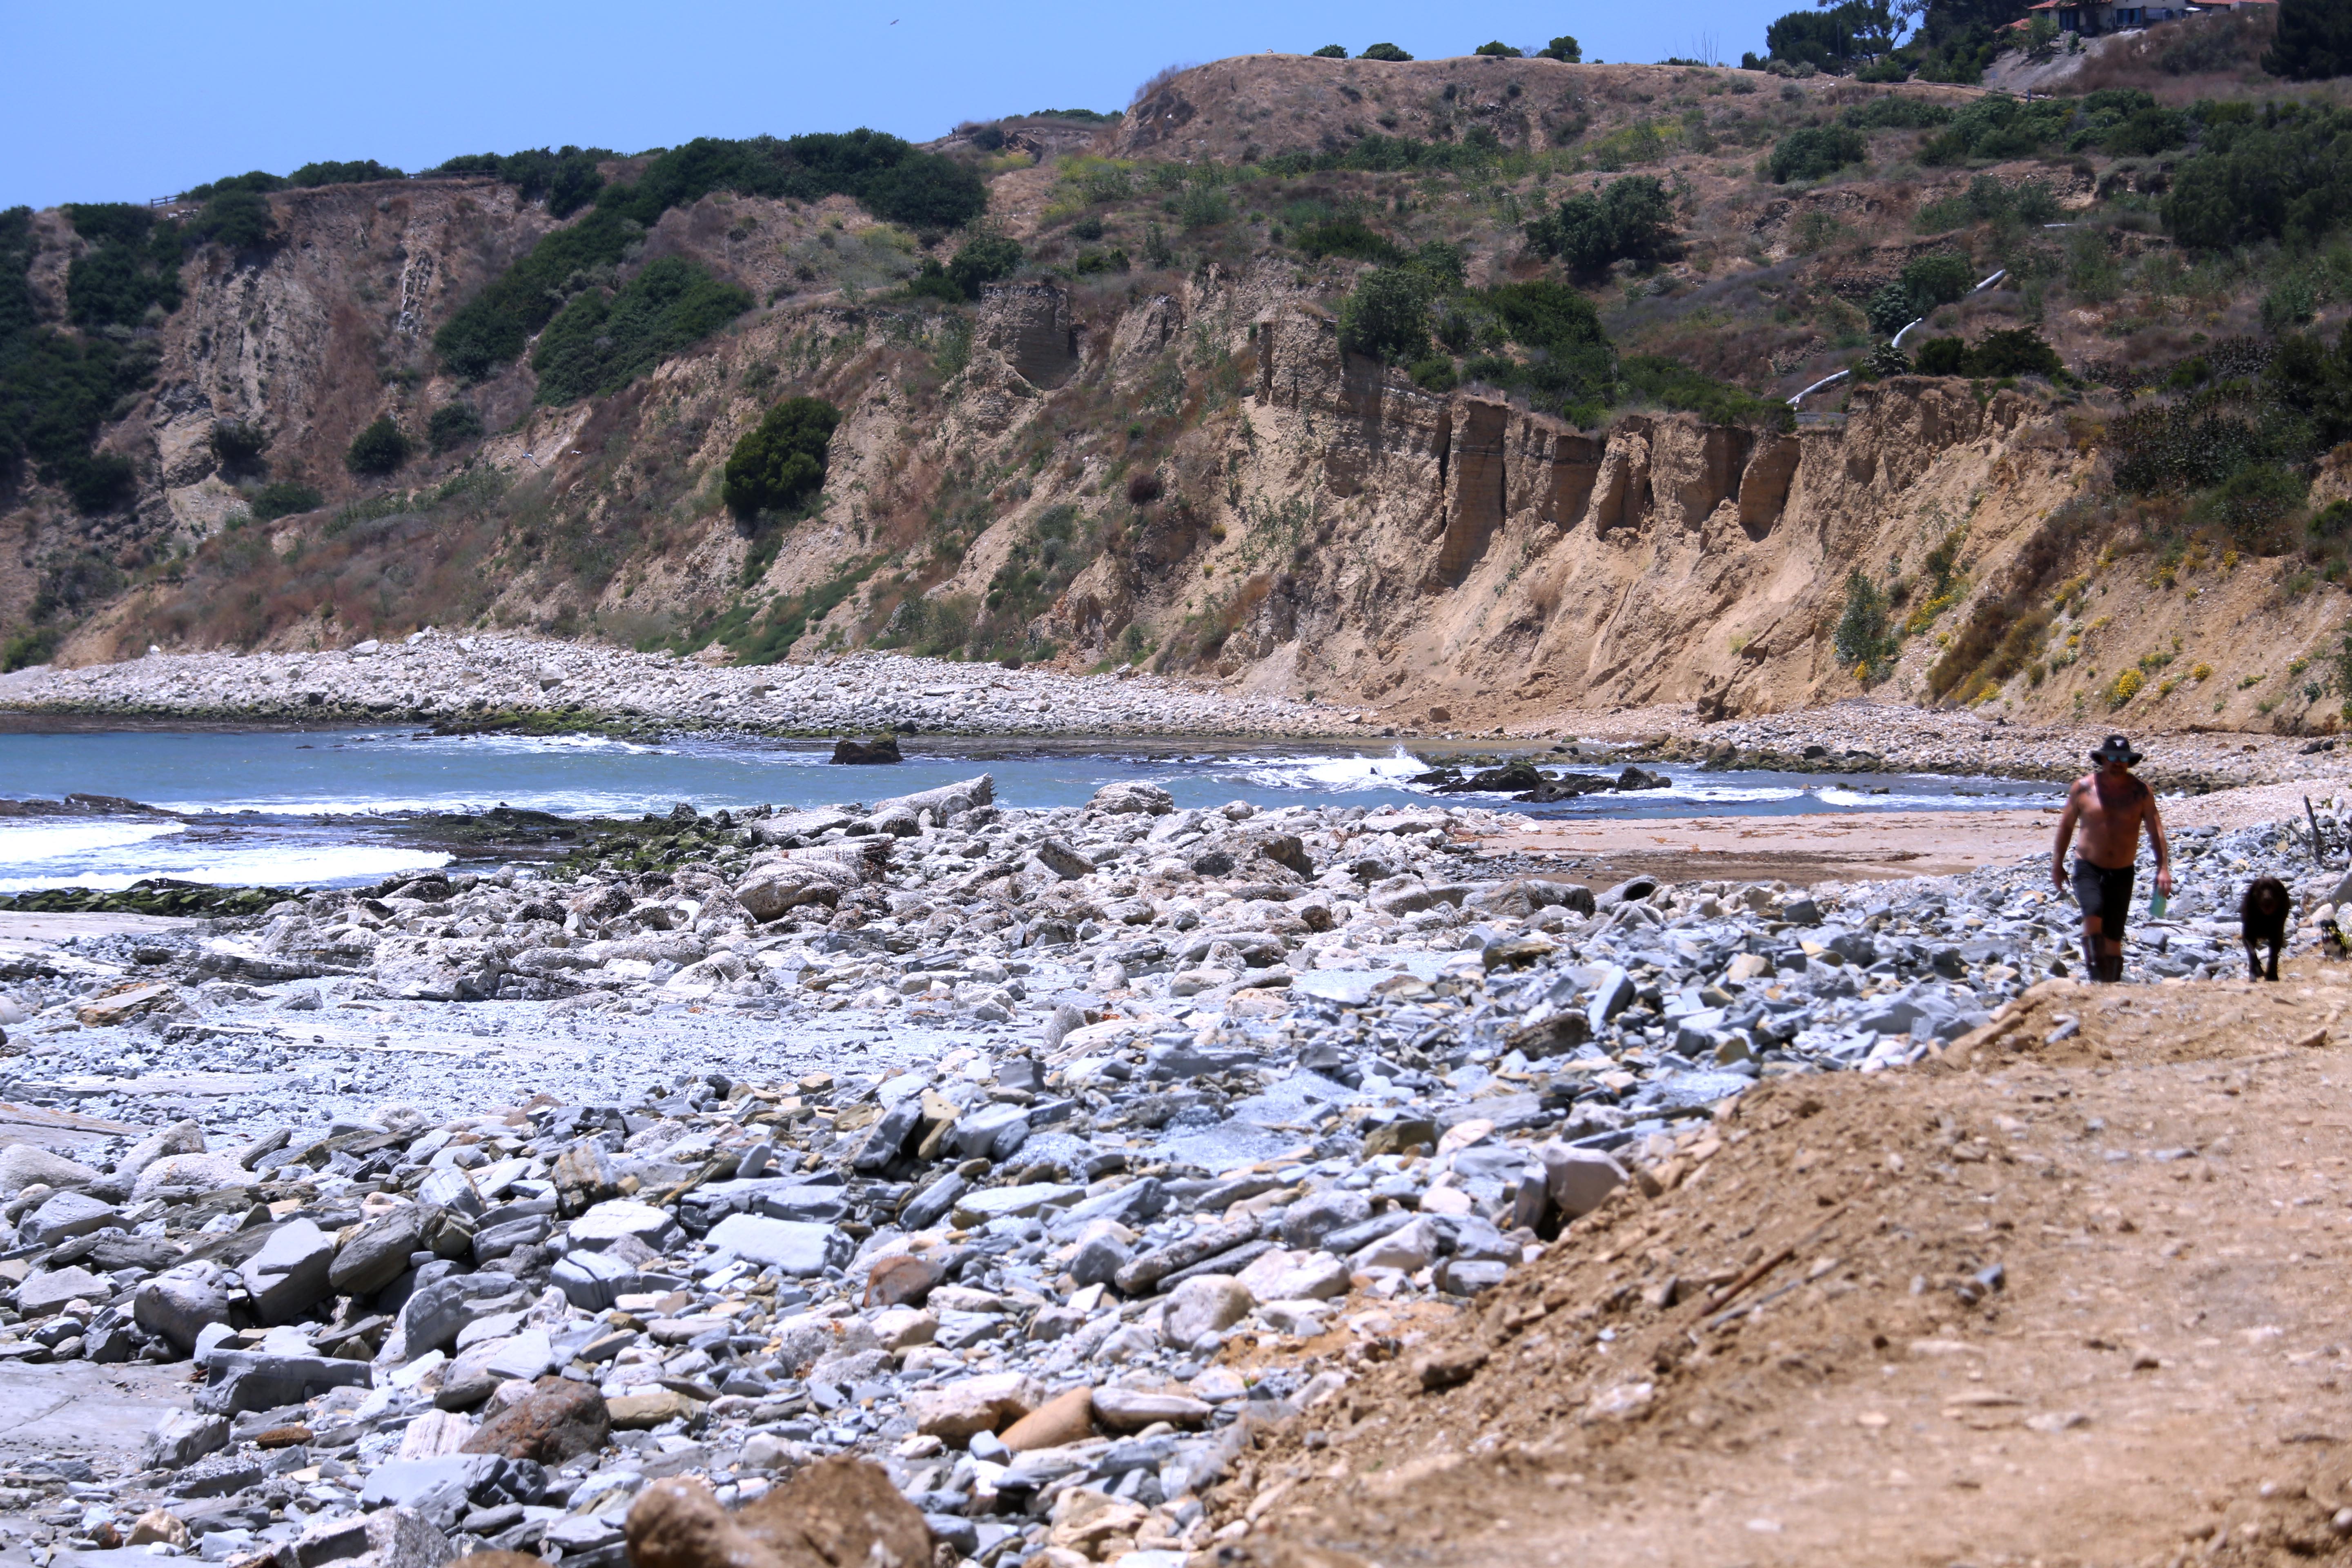
<path fill-rule="evenodd" d="M 405 169 L 529 146 L 1124 108 L 1176 61 L 1263 49 L 1468 54 L 1576 35 L 1585 56 L 1736 61 L 1802 0 L 1677 5 L 609 5 L 400 7 L 0 2 L 0 207 L 172 195 L 245 169 L 376 158 Z M 896 19 L 896 26 L 891 21 Z"/>

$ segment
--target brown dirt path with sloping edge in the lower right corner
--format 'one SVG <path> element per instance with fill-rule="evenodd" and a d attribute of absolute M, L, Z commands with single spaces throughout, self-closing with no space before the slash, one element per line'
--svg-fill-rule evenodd
<path fill-rule="evenodd" d="M 1945 1063 L 1766 1084 L 1357 1349 L 1216 1497 L 1230 1561 L 2352 1554 L 2347 1006 L 2343 964 L 2053 980 Z"/>

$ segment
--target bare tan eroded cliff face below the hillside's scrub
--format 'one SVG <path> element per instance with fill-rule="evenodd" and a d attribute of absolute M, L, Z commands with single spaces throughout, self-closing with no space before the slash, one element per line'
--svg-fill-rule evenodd
<path fill-rule="evenodd" d="M 214 421 L 238 418 L 270 430 L 273 473 L 329 494 L 322 512 L 268 529 L 270 562 L 350 552 L 339 571 L 372 585 L 390 616 L 374 630 L 393 632 L 402 614 L 449 623 L 449 602 L 400 599 L 433 571 L 466 578 L 466 621 L 642 642 L 767 614 L 781 630 L 762 654 L 793 658 L 922 646 L 908 628 L 1018 614 L 1028 646 L 1068 663 L 1145 658 L 1439 729 L 1853 696 L 1863 686 L 1832 639 L 1849 571 L 1919 583 L 1903 621 L 1945 541 L 1959 562 L 1950 592 L 1919 611 L 1879 693 L 1943 696 L 1929 670 L 1978 602 L 2046 604 L 2072 576 L 2098 583 L 2051 649 L 2070 628 L 2077 644 L 2042 679 L 2002 672 L 1992 696 L 2009 712 L 2082 715 L 2133 658 L 2194 661 L 2209 646 L 2263 658 L 2328 632 L 2324 595 L 2281 595 L 2274 564 L 2213 574 L 2197 597 L 2100 578 L 2096 541 L 2065 522 L 2096 451 L 2025 393 L 1896 378 L 1788 435 L 1686 414 L 1576 430 L 1475 390 L 1430 395 L 1343 353 L 1331 315 L 1268 261 L 1174 287 L 1018 280 L 969 317 L 786 296 L 616 397 L 546 409 L 527 364 L 454 388 L 426 348 L 543 214 L 470 181 L 292 200 L 294 237 L 266 263 L 193 263 L 155 390 L 106 435 L 151 477 L 136 515 L 111 524 L 127 538 L 92 541 L 38 498 L 0 520 L 14 545 L 0 592 L 14 607 L 42 548 L 75 529 L 87 548 L 202 548 L 242 505 L 240 475 L 221 473 L 209 440 Z M 783 289 L 781 237 L 880 244 L 844 219 L 847 205 L 713 197 L 663 219 L 647 254 Z M 339 463 L 350 435 L 383 411 L 421 428 L 461 390 L 499 433 L 402 473 L 419 515 L 339 524 L 336 503 L 360 491 Z M 715 475 L 786 393 L 835 400 L 842 423 L 823 505 L 762 538 L 717 505 Z M 487 510 L 452 520 L 416 501 L 466 473 L 492 480 Z M 1044 574 L 1056 552 L 1061 574 Z M 282 588 L 289 569 L 270 569 Z M 1037 578 L 1035 602 L 1021 599 Z M 202 642 L 214 623 L 193 599 L 223 592 L 245 592 L 245 578 L 162 574 L 92 618 L 64 658 Z M 348 595 L 343 609 L 280 616 L 240 644 L 348 642 L 362 632 Z M 2256 722 L 2258 696 L 2166 691 L 2159 705 L 2152 691 L 2133 719 Z"/>

